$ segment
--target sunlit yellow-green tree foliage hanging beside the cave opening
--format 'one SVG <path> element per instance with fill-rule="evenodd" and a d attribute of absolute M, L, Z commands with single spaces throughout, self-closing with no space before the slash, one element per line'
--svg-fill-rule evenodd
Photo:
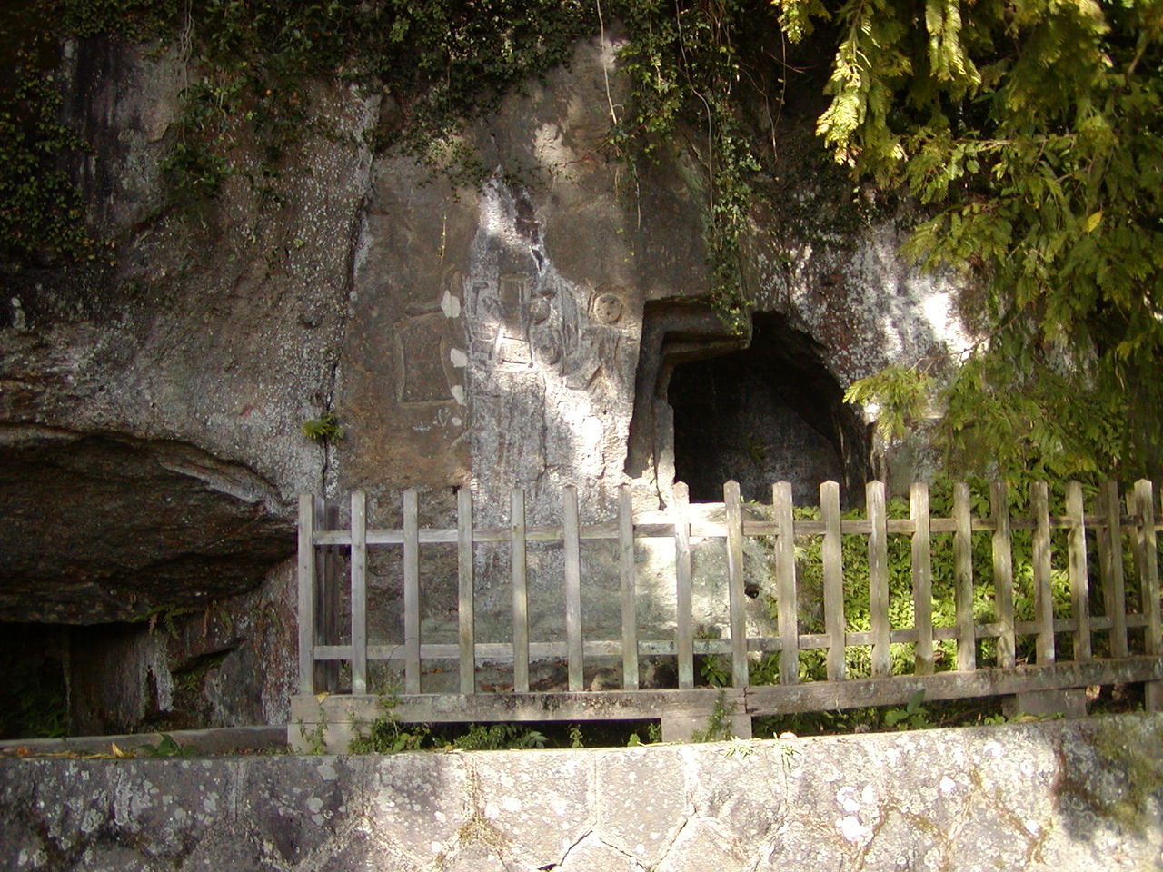
<path fill-rule="evenodd" d="M 1161 469 L 1163 5 L 778 0 L 836 34 L 819 133 L 930 212 L 985 339 L 936 386 L 955 469 Z"/>

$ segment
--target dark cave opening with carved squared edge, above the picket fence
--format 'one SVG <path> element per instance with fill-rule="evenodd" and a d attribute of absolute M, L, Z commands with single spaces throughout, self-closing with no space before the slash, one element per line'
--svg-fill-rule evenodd
<path fill-rule="evenodd" d="M 627 471 L 654 465 L 661 488 L 685 481 L 691 500 L 719 502 L 728 479 L 744 499 L 769 502 L 792 483 L 795 502 L 818 505 L 819 485 L 841 483 L 863 500 L 869 435 L 829 372 L 823 349 L 777 314 L 757 314 L 732 336 L 709 310 L 648 303 Z"/>

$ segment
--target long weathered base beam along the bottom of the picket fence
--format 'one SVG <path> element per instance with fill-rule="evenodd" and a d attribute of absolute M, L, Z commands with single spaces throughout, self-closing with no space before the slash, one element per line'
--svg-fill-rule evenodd
<path fill-rule="evenodd" d="M 1163 660 L 1158 657 L 1127 657 L 930 676 L 758 685 L 723 691 L 402 694 L 397 698 L 392 713 L 404 723 L 657 719 L 669 713 L 708 710 L 723 693 L 734 710 L 762 716 L 899 705 L 918 691 L 925 692 L 927 701 L 937 701 L 1157 680 L 1163 680 Z M 292 723 L 368 722 L 381 712 L 379 698 L 370 695 L 331 694 L 320 700 L 311 694 L 298 694 L 291 698 Z"/>

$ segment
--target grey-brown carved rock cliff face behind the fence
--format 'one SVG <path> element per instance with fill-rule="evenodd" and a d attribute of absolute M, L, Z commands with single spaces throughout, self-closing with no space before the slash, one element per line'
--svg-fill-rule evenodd
<path fill-rule="evenodd" d="M 69 116 L 95 145 L 78 178 L 116 257 L 3 272 L 0 620 L 117 623 L 78 631 L 65 669 L 91 674 L 113 645 L 134 688 L 121 698 L 137 702 L 86 721 L 100 694 L 78 678 L 90 689 L 74 722 L 165 722 L 174 674 L 204 702 L 231 676 L 230 693 L 190 707 L 202 721 L 285 716 L 299 492 L 364 488 L 387 522 L 399 491 L 419 487 L 422 517 L 440 521 L 468 485 L 491 522 L 514 486 L 536 520 L 576 484 L 585 521 L 623 483 L 641 508 L 665 503 L 676 469 L 793 478 L 800 496 L 819 478 L 864 478 L 866 430 L 841 388 L 956 351 L 950 288 L 899 262 L 892 221 L 821 228 L 848 207 L 789 157 L 789 201 L 811 220 L 757 207 L 749 281 L 768 314 L 755 343 L 725 331 L 698 303 L 695 167 L 676 158 L 632 183 L 607 159 L 609 107 L 625 99 L 616 49 L 580 43 L 569 69 L 465 129 L 495 167 L 479 188 L 373 155 L 363 134 L 390 107 L 321 86 L 328 135 L 307 133 L 285 158 L 276 198 L 241 172 L 208 208 L 174 214 L 158 162 L 183 64 L 71 47 Z M 789 152 L 811 152 L 809 122 L 783 123 L 800 143 Z M 251 158 L 240 145 L 237 165 Z M 342 439 L 304 436 L 324 414 Z M 559 557 L 538 559 L 552 576 Z M 487 603 L 499 592 L 481 578 Z M 386 571 L 373 595 L 391 602 L 394 584 Z M 181 626 L 165 632 L 159 616 Z"/>

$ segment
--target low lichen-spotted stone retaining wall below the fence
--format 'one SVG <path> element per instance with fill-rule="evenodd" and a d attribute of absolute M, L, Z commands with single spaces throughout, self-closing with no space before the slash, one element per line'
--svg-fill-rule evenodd
<path fill-rule="evenodd" d="M 0 869 L 1163 869 L 1163 715 L 579 751 L 0 760 Z"/>

